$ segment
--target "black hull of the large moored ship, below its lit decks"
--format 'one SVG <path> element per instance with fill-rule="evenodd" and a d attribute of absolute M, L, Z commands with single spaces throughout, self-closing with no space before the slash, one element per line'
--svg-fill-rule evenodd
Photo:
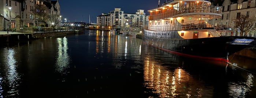
<path fill-rule="evenodd" d="M 148 34 L 155 34 L 166 31 L 144 30 L 144 32 L 150 32 Z M 142 34 L 142 40 L 146 44 L 156 48 L 182 56 L 220 61 L 227 61 L 227 56 L 254 45 L 254 41 L 256 40 L 254 37 L 238 36 L 183 39 L 178 36 L 177 31 L 171 31 L 171 33 L 174 34 L 169 38 L 154 37 L 145 33 Z M 237 39 L 247 39 L 248 43 L 236 43 L 235 41 Z"/>

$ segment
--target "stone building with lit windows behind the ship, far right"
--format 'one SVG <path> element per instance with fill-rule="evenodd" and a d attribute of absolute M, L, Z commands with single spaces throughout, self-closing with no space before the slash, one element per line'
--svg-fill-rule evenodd
<path fill-rule="evenodd" d="M 241 15 L 256 17 L 255 0 L 224 0 L 222 3 L 222 17 L 218 18 L 215 25 L 228 25 L 230 21 L 239 19 Z M 235 25 L 235 24 L 234 24 Z M 239 30 L 234 28 L 233 35 L 239 35 Z M 255 27 L 248 33 L 249 36 L 255 36 Z"/>

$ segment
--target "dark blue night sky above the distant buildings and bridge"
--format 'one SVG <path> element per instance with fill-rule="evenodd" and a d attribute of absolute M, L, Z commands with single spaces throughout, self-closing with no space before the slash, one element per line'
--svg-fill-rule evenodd
<path fill-rule="evenodd" d="M 166 0 L 160 0 L 162 5 Z M 169 1 L 169 0 L 167 0 Z M 115 8 L 124 13 L 135 14 L 139 9 L 149 15 L 148 10 L 158 7 L 158 0 L 59 0 L 60 14 L 70 22 L 96 23 L 96 16 L 108 14 Z"/>

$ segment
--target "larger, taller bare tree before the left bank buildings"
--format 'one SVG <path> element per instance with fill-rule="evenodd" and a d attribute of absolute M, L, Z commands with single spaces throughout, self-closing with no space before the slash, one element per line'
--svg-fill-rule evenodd
<path fill-rule="evenodd" d="M 47 19 L 47 7 L 43 4 L 35 4 L 35 8 L 31 10 L 32 20 L 37 25 Z"/>

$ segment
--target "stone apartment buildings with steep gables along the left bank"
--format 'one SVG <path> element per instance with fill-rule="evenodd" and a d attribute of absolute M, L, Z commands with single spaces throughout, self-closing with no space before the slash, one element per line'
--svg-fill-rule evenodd
<path fill-rule="evenodd" d="M 20 27 L 23 25 L 27 25 L 28 27 L 35 26 L 31 11 L 35 8 L 36 4 L 45 5 L 48 8 L 48 15 L 60 15 L 58 0 L 0 0 L 0 30 L 7 30 L 9 27 L 15 28 L 16 16 L 21 18 Z M 48 23 L 46 20 L 45 24 L 48 25 L 51 23 Z"/>

